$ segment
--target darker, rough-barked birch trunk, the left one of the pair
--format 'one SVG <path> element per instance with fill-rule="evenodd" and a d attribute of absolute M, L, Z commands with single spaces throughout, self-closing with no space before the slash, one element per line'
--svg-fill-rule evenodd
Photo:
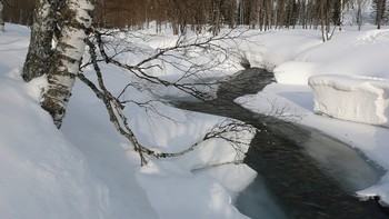
<path fill-rule="evenodd" d="M 48 72 L 53 53 L 52 37 L 57 28 L 56 12 L 61 0 L 37 0 L 31 27 L 30 47 L 26 57 L 22 77 L 30 81 Z"/>

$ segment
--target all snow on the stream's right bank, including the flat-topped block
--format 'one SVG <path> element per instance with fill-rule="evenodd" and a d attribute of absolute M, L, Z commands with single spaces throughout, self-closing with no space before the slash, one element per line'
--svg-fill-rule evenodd
<path fill-rule="evenodd" d="M 259 66 L 273 69 L 277 82 L 257 94 L 245 96 L 236 101 L 251 111 L 273 115 L 323 131 L 361 151 L 367 159 L 388 170 L 389 129 L 315 113 L 316 107 L 330 116 L 347 115 L 350 120 L 363 118 L 363 122 L 370 123 L 379 120 L 381 126 L 387 126 L 389 29 L 373 28 L 367 26 L 362 31 L 357 31 L 357 27 L 343 27 L 343 31 L 336 31 L 330 41 L 317 44 L 312 42 L 320 38 L 320 31 L 315 30 L 278 30 L 271 33 L 269 43 L 263 37 L 261 49 L 271 51 L 272 57 L 278 59 L 266 58 L 267 53 L 263 53 L 262 59 L 258 58 L 262 60 Z M 286 34 L 290 42 L 307 36 L 306 42 L 311 42 L 311 47 L 293 43 L 280 48 L 280 43 L 275 42 Z M 310 89 L 309 78 L 312 83 L 326 83 L 325 89 Z M 330 90 L 331 88 L 337 89 Z M 345 89 L 349 92 L 340 91 Z M 320 100 L 315 101 L 315 91 L 320 91 Z M 340 101 L 342 99 L 347 101 Z M 321 101 L 332 109 L 325 110 L 322 106 L 315 104 Z M 338 111 L 339 106 L 346 111 Z M 353 109 L 360 111 L 351 111 Z M 358 191 L 358 195 L 380 196 L 380 202 L 389 206 L 388 178 L 389 173 L 386 173 L 377 185 Z"/>

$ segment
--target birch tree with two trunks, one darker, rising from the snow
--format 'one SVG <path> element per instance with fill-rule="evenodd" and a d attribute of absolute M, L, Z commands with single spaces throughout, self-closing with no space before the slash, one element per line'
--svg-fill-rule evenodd
<path fill-rule="evenodd" d="M 30 81 L 47 74 L 48 89 L 41 106 L 57 128 L 61 127 L 76 74 L 92 23 L 91 0 L 37 0 L 31 41 L 22 77 Z M 52 46 L 54 31 L 60 30 Z"/>

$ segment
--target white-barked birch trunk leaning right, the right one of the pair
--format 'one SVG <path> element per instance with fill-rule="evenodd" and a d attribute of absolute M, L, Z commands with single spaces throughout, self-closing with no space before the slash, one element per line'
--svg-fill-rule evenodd
<path fill-rule="evenodd" d="M 61 37 L 48 71 L 48 90 L 43 93 L 42 108 L 50 112 L 60 128 L 66 108 L 79 72 L 84 52 L 87 31 L 92 22 L 93 4 L 90 0 L 66 0 L 58 22 Z"/>

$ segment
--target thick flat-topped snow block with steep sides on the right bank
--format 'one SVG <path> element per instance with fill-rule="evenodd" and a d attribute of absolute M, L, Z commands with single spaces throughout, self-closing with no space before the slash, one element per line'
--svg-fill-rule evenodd
<path fill-rule="evenodd" d="M 389 80 L 358 76 L 315 76 L 316 113 L 389 128 Z"/>

